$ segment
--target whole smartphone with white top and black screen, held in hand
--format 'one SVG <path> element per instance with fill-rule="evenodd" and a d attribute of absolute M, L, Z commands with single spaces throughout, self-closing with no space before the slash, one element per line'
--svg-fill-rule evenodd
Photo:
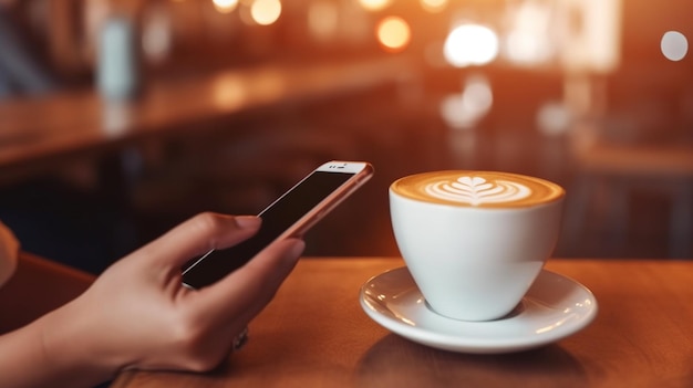
<path fill-rule="evenodd" d="M 204 254 L 183 272 L 192 289 L 210 285 L 250 261 L 276 240 L 301 237 L 373 175 L 365 161 L 329 161 L 316 168 L 258 216 L 260 230 L 250 239 Z"/>

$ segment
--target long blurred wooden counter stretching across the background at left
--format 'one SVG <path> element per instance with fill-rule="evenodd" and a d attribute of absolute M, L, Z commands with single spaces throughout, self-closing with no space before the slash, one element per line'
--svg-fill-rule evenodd
<path fill-rule="evenodd" d="M 268 64 L 151 82 L 139 98 L 93 90 L 0 101 L 0 182 L 99 156 L 143 139 L 190 135 L 256 108 L 307 102 L 412 76 L 403 56 L 323 64 Z"/>

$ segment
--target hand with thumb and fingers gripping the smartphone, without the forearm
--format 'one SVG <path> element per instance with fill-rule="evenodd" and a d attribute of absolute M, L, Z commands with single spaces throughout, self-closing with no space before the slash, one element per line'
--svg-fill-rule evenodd
<path fill-rule="evenodd" d="M 83 295 L 42 319 L 49 361 L 63 369 L 90 365 L 94 379 L 126 368 L 214 368 L 270 302 L 304 244 L 278 241 L 197 291 L 182 285 L 180 268 L 210 249 L 249 238 L 260 222 L 199 214 L 116 262 Z"/>

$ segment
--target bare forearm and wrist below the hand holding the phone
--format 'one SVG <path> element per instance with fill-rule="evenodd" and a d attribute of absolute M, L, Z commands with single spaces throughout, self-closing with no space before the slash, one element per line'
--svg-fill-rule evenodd
<path fill-rule="evenodd" d="M 115 368 L 83 346 L 80 319 L 65 319 L 69 310 L 0 336 L 0 388 L 93 387 L 114 375 Z"/>

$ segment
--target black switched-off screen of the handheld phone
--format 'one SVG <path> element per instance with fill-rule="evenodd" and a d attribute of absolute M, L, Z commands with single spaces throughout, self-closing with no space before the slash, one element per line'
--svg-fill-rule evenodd
<path fill-rule="evenodd" d="M 353 176 L 349 172 L 313 171 L 259 214 L 262 226 L 254 237 L 231 248 L 207 253 L 184 271 L 183 283 L 201 289 L 221 280 L 247 263 Z"/>

